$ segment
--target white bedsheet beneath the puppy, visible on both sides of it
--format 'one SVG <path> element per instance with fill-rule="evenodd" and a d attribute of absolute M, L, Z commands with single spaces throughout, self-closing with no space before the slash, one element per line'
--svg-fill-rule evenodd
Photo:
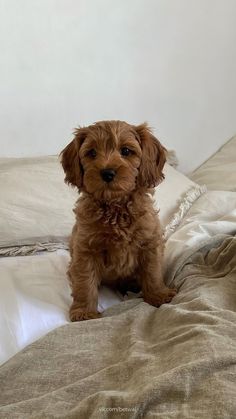
<path fill-rule="evenodd" d="M 191 207 L 180 227 L 168 239 L 165 277 L 171 283 L 172 267 L 183 253 L 191 253 L 216 234 L 236 231 L 236 193 L 208 192 Z M 0 258 L 0 362 L 50 330 L 69 321 L 70 288 L 66 279 L 69 254 L 53 253 Z M 122 298 L 105 287 L 99 309 Z"/>

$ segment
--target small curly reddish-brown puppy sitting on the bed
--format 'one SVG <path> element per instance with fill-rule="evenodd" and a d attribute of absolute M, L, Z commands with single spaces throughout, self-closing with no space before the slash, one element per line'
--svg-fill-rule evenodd
<path fill-rule="evenodd" d="M 146 124 L 97 122 L 75 132 L 61 153 L 65 181 L 81 192 L 68 270 L 72 321 L 94 319 L 98 287 L 135 279 L 159 307 L 176 290 L 162 278 L 162 233 L 150 188 L 162 181 L 165 149 Z"/>

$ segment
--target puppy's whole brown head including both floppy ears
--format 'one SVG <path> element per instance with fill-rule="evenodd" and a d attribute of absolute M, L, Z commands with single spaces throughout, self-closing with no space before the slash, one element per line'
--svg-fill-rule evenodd
<path fill-rule="evenodd" d="M 109 200 L 162 181 L 165 149 L 147 124 L 102 121 L 75 131 L 62 151 L 65 181 Z"/>

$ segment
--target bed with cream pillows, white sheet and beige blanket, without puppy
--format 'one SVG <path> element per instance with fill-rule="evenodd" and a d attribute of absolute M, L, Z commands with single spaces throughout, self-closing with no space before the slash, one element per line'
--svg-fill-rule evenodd
<path fill-rule="evenodd" d="M 70 323 L 77 193 L 55 156 L 0 159 L 0 417 L 235 417 L 236 137 L 188 176 L 169 163 L 154 203 L 177 296 L 102 287 L 102 318 Z"/>

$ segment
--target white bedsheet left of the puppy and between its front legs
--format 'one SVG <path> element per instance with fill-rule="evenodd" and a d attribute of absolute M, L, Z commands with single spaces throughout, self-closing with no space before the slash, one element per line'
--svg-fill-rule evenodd
<path fill-rule="evenodd" d="M 69 322 L 69 253 L 0 258 L 0 364 L 52 329 Z M 122 300 L 101 287 L 99 310 Z"/>

